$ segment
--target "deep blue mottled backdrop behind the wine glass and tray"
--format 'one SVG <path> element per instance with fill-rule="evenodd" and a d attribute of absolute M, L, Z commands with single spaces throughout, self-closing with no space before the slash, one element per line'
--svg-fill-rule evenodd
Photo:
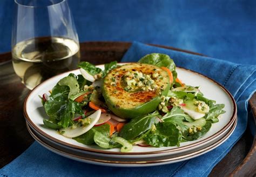
<path fill-rule="evenodd" d="M 256 1 L 69 0 L 80 42 L 170 45 L 256 64 Z M 14 2 L 0 2 L 0 52 L 11 50 Z"/>

